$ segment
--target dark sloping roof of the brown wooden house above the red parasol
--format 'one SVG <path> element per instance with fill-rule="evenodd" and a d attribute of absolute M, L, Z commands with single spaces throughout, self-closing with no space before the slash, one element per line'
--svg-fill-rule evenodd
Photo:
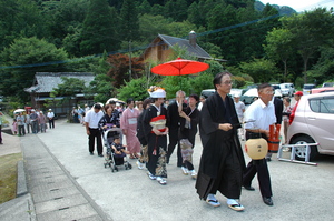
<path fill-rule="evenodd" d="M 204 58 L 209 59 L 212 58 L 210 54 L 208 54 L 203 48 L 200 48 L 197 43 L 196 47 L 193 47 L 189 43 L 188 39 L 180 39 L 171 36 L 165 36 L 165 34 L 158 34 L 158 37 L 167 43 L 169 47 L 174 47 L 175 44 L 178 44 L 179 47 L 184 47 L 187 49 L 190 56 L 195 56 L 197 58 Z"/>

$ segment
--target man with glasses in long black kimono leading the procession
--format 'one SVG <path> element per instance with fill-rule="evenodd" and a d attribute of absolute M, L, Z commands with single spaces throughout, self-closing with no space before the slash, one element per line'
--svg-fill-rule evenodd
<path fill-rule="evenodd" d="M 238 202 L 242 192 L 245 160 L 237 137 L 240 127 L 230 92 L 229 72 L 220 72 L 214 79 L 216 92 L 204 103 L 199 132 L 203 143 L 199 171 L 196 181 L 200 199 L 213 207 L 220 203 L 215 194 L 219 191 L 227 204 L 236 211 L 244 210 Z"/>

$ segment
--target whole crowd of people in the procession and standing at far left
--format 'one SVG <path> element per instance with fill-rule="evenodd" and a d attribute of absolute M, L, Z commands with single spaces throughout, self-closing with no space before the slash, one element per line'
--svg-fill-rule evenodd
<path fill-rule="evenodd" d="M 148 178 L 161 185 L 167 184 L 167 164 L 171 164 L 176 148 L 176 165 L 183 174 L 196 180 L 198 197 L 208 204 L 219 207 L 216 194 L 220 192 L 230 209 L 243 211 L 242 188 L 254 191 L 252 181 L 257 173 L 263 201 L 273 205 L 267 164 L 271 154 L 259 160 L 252 159 L 246 165 L 240 141 L 268 140 L 269 127 L 281 123 L 286 138 L 289 118 L 298 103 L 292 108 L 289 98 L 276 100 L 273 87 L 262 83 L 257 88 L 258 99 L 246 109 L 239 96 L 228 96 L 233 84 L 229 72 L 218 73 L 213 84 L 215 93 L 207 99 L 190 94 L 186 100 L 186 93 L 179 90 L 175 102 L 169 103 L 165 100 L 165 89 L 153 86 L 147 90 L 148 99 L 135 101 L 129 98 L 126 108 L 122 102 L 108 100 L 105 104 L 94 104 L 91 109 L 87 106 L 85 109 L 73 108 L 71 113 L 76 122 L 86 127 L 91 155 L 96 152 L 104 157 L 101 137 L 112 130 L 118 132 L 110 143 L 117 158 L 128 155 L 136 159 L 138 169 L 146 168 Z M 299 91 L 295 93 L 296 101 L 301 96 Z M 14 132 L 24 135 L 24 128 L 28 133 L 30 129 L 32 133 L 46 132 L 47 122 L 49 128 L 55 128 L 53 118 L 51 109 L 47 115 L 36 110 L 19 113 L 13 122 Z M 198 128 L 203 150 L 197 173 L 193 153 Z"/>

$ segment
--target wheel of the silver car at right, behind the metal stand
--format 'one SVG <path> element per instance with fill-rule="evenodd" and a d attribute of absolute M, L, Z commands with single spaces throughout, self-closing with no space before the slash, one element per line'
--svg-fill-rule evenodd
<path fill-rule="evenodd" d="M 305 161 L 306 158 L 306 144 L 307 143 L 314 143 L 314 140 L 307 135 L 301 135 L 297 138 L 294 138 L 292 140 L 292 144 L 305 144 L 304 147 L 296 147 L 296 153 L 295 153 L 295 159 L 296 160 L 301 160 L 301 161 Z M 310 161 L 312 161 L 317 154 L 317 148 L 316 145 L 312 145 L 311 147 L 311 152 L 310 152 Z"/>

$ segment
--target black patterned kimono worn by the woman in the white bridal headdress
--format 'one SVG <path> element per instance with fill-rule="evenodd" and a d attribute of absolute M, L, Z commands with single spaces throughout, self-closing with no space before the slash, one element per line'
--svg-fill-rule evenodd
<path fill-rule="evenodd" d="M 165 107 L 160 107 L 160 114 L 155 106 L 150 106 L 146 109 L 143 117 L 144 134 L 148 142 L 147 154 L 148 161 L 146 163 L 147 170 L 156 177 L 167 178 L 166 170 L 166 157 L 167 157 L 167 137 L 156 135 L 151 129 L 150 122 L 157 118 L 166 119 L 167 110 Z M 163 132 L 163 131 L 161 131 Z"/>

